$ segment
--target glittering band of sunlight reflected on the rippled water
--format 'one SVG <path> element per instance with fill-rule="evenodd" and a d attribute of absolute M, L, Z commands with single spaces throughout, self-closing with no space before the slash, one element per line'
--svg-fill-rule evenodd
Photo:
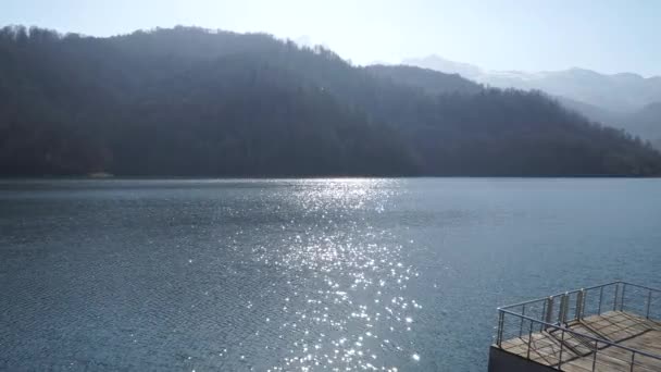
<path fill-rule="evenodd" d="M 387 231 L 374 228 L 364 219 L 348 218 L 357 211 L 382 212 L 390 197 L 383 185 L 387 182 L 304 183 L 287 202 L 314 223 L 303 227 L 291 221 L 283 226 L 296 232 L 286 244 L 275 251 L 260 249 L 260 260 L 286 272 L 297 287 L 314 288 L 295 293 L 304 307 L 285 303 L 280 309 L 296 315 L 279 326 L 282 334 L 297 337 L 289 355 L 273 370 L 396 370 L 384 356 L 392 360 L 396 354 L 414 351 L 412 345 L 401 343 L 407 338 L 400 334 L 412 332 L 420 308 L 407 293 L 408 282 L 417 272 L 401 262 L 402 246 L 392 244 L 396 239 Z"/>

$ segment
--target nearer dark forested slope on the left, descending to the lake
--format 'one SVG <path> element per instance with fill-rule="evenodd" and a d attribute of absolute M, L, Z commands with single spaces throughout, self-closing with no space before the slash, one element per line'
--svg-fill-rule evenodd
<path fill-rule="evenodd" d="M 166 41 L 162 47 L 141 33 L 135 39 L 40 35 L 10 34 L 0 44 L 7 57 L 0 98 L 9 100 L 0 108 L 1 174 L 417 172 L 392 129 L 286 70 L 235 51 L 196 54 L 208 46 L 194 50 L 191 41 L 205 32 L 174 33 L 180 42 L 160 35 L 154 41 Z"/>

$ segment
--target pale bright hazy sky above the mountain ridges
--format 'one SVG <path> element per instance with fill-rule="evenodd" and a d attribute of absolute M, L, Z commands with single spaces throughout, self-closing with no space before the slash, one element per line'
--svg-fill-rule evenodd
<path fill-rule="evenodd" d="M 0 24 L 107 36 L 198 25 L 308 36 L 356 63 L 661 75 L 661 0 L 0 0 Z"/>

